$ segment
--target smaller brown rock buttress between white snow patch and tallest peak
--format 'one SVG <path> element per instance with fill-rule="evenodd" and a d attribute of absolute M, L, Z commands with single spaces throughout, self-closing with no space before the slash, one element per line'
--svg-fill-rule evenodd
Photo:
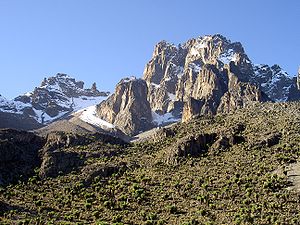
<path fill-rule="evenodd" d="M 152 127 L 152 114 L 147 92 L 144 80 L 123 79 L 115 93 L 97 106 L 98 116 L 128 135 L 148 130 Z"/>

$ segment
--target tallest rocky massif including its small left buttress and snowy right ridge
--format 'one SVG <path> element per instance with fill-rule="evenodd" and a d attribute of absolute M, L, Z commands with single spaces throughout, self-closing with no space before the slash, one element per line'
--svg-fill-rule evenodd
<path fill-rule="evenodd" d="M 127 134 L 136 134 L 150 126 L 149 110 L 152 126 L 158 126 L 198 115 L 228 113 L 254 102 L 300 97 L 296 79 L 280 66 L 254 65 L 241 43 L 221 35 L 191 39 L 178 46 L 159 42 L 139 82 L 142 80 L 148 89 L 146 99 L 135 96 L 133 90 L 121 91 L 119 83 L 113 97 L 98 105 L 98 115 Z M 128 101 L 134 104 L 126 108 L 122 121 L 135 115 L 130 125 L 115 120 L 119 113 L 124 115 Z M 138 110 L 147 115 L 137 114 Z M 145 118 L 147 128 L 141 127 Z"/>

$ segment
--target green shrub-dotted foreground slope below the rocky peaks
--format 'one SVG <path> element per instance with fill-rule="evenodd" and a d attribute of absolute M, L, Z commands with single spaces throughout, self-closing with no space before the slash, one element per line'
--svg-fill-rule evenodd
<path fill-rule="evenodd" d="M 300 103 L 258 103 L 158 129 L 147 142 L 104 144 L 90 137 L 54 147 L 35 176 L 2 187 L 1 219 L 299 224 L 300 194 L 288 171 L 300 154 L 299 121 Z M 67 157 L 73 166 L 60 167 L 59 154 L 77 155 L 76 164 Z"/>

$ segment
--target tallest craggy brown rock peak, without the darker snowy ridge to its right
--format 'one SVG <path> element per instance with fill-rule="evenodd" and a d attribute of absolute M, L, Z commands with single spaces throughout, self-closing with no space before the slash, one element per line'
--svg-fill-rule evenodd
<path fill-rule="evenodd" d="M 188 121 L 196 114 L 228 112 L 252 101 L 266 101 L 252 82 L 257 74 L 240 43 L 214 35 L 191 39 L 178 47 L 158 43 L 143 77 L 154 111 L 178 111 L 174 103 L 183 102 L 187 104 L 183 121 Z M 195 110 L 193 104 L 199 108 Z"/>

